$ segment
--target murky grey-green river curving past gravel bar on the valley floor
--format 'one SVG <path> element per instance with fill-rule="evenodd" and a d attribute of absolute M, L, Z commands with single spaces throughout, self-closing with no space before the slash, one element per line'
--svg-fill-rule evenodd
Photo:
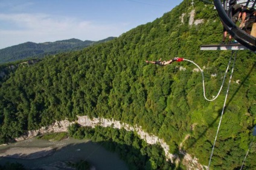
<path fill-rule="evenodd" d="M 126 163 L 124 163 L 116 153 L 107 151 L 103 146 L 91 142 L 91 140 L 67 139 L 59 142 L 49 142 L 48 140 L 33 137 L 20 142 L 11 143 L 10 145 L 0 146 L 0 153 L 4 153 L 13 148 L 29 149 L 46 147 L 56 148 L 56 151 L 48 156 L 30 160 L 0 157 L 0 165 L 4 165 L 4 163 L 8 161 L 22 163 L 22 165 L 28 169 L 51 169 L 51 166 L 52 168 L 57 168 L 57 166 L 53 166 L 53 163 L 56 162 L 87 160 L 98 170 L 128 169 Z"/>

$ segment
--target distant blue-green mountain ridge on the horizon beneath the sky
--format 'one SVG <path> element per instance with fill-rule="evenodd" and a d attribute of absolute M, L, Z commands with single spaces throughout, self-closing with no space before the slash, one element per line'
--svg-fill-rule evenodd
<path fill-rule="evenodd" d="M 99 41 L 68 39 L 44 43 L 25 42 L 0 49 L 0 64 L 17 60 L 27 60 L 28 58 L 42 58 L 45 55 L 54 55 L 59 52 L 76 51 L 91 45 L 107 42 L 114 38 L 107 37 L 107 39 Z"/>

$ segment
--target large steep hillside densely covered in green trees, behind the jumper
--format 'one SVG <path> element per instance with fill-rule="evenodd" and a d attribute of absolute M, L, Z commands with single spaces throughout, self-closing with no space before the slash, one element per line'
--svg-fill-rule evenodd
<path fill-rule="evenodd" d="M 209 102 L 203 98 L 201 73 L 191 63 L 145 62 L 193 60 L 204 69 L 206 96 L 217 94 L 231 51 L 200 51 L 200 45 L 219 43 L 223 28 L 213 5 L 194 2 L 194 8 L 184 1 L 110 42 L 19 67 L 0 86 L 1 143 L 25 130 L 89 115 L 139 125 L 164 139 L 171 153 L 184 150 L 207 166 L 228 81 L 219 98 Z M 202 24 L 188 24 L 193 9 Z M 256 124 L 255 73 L 255 54 L 238 51 L 211 169 L 242 166 Z M 252 145 L 244 168 L 256 167 L 255 151 Z"/>

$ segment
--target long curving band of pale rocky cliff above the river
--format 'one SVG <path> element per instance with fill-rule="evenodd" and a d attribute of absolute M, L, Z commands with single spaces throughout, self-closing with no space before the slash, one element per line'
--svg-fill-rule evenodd
<path fill-rule="evenodd" d="M 62 132 L 62 131 L 68 131 L 69 125 L 74 124 L 75 122 L 69 122 L 69 121 L 60 121 L 60 122 L 55 122 L 53 125 L 50 125 L 48 127 L 42 127 L 39 130 L 30 130 L 27 131 L 27 134 L 24 134 L 24 136 L 16 138 L 17 141 L 19 140 L 24 140 L 28 139 L 30 137 L 37 136 L 39 134 L 44 134 L 44 133 L 57 133 L 57 132 Z M 114 119 L 104 119 L 104 118 L 93 118 L 90 119 L 88 116 L 79 116 L 78 117 L 78 124 L 82 126 L 87 126 L 87 127 L 92 127 L 94 128 L 97 125 L 100 125 L 101 127 L 113 127 L 113 128 L 124 128 L 127 131 L 134 131 L 138 134 L 138 136 L 145 140 L 149 144 L 159 144 L 162 146 L 164 152 L 165 152 L 165 157 L 167 160 L 171 160 L 171 162 L 175 160 L 180 160 L 177 155 L 169 153 L 170 146 L 167 145 L 167 143 L 164 142 L 163 139 L 159 139 L 157 136 L 146 133 L 145 131 L 142 130 L 141 127 L 135 126 L 132 127 L 129 124 L 124 124 L 120 121 L 115 121 Z M 187 166 L 187 169 L 203 169 L 203 167 L 206 168 L 206 166 L 200 165 L 198 160 L 194 157 L 192 158 L 189 154 L 185 153 L 185 151 L 180 151 L 180 154 L 183 154 L 183 160 L 182 163 Z"/>

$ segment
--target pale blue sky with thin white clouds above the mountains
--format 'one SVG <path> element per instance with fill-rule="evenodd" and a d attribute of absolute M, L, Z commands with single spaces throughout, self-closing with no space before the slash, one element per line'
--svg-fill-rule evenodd
<path fill-rule="evenodd" d="M 118 37 L 182 0 L 0 0 L 0 49 L 24 42 Z"/>

